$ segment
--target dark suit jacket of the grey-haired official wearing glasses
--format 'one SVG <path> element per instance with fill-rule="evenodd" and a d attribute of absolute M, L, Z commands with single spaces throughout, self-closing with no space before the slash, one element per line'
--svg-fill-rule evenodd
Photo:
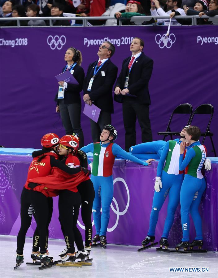
<path fill-rule="evenodd" d="M 98 106 L 102 111 L 114 113 L 112 90 L 117 77 L 117 66 L 110 59 L 100 68 L 92 83 L 91 92 L 87 91 L 89 81 L 94 75 L 94 67 L 98 61 L 89 65 L 87 74 L 83 83 L 83 92 L 89 94 L 93 104 Z M 104 72 L 104 76 L 102 75 Z"/>

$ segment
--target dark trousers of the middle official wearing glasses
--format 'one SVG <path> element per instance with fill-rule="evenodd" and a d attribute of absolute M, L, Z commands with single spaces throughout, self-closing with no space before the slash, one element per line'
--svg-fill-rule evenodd
<path fill-rule="evenodd" d="M 101 111 L 98 118 L 98 122 L 94 122 L 90 119 L 90 123 L 92 140 L 94 143 L 99 142 L 103 127 L 111 124 L 111 113 Z"/>

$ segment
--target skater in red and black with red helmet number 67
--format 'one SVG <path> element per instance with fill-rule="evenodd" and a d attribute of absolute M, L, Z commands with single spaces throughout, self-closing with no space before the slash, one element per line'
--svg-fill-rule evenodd
<path fill-rule="evenodd" d="M 25 243 L 25 236 L 28 228 L 31 225 L 32 218 L 28 214 L 29 208 L 34 208 L 34 217 L 37 223 L 37 229 L 39 233 L 40 241 L 40 253 L 38 257 L 41 260 L 41 263 L 48 263 L 53 258 L 48 257 L 46 253 L 47 249 L 47 223 L 49 216 L 49 206 L 47 197 L 52 197 L 55 195 L 49 195 L 46 190 L 31 190 L 28 187 L 29 179 L 34 179 L 36 177 L 46 177 L 51 173 L 53 167 L 56 169 L 61 169 L 64 173 L 75 174 L 81 171 L 80 168 L 70 169 L 66 165 L 63 165 L 58 160 L 57 151 L 59 148 L 59 137 L 54 133 L 48 133 L 44 135 L 41 139 L 41 145 L 43 146 L 44 153 L 42 155 L 36 156 L 33 158 L 32 164 L 28 169 L 27 182 L 24 185 L 24 188 L 21 193 L 20 198 L 20 218 L 21 226 L 19 233 L 17 235 L 17 257 L 16 257 L 16 267 L 19 267 L 21 263 L 24 262 L 23 250 Z M 35 152 L 35 155 L 37 152 Z"/>

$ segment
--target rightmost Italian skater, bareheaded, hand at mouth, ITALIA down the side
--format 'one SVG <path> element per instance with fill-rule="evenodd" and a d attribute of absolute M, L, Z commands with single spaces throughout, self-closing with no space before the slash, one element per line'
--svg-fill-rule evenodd
<path fill-rule="evenodd" d="M 202 220 L 198 211 L 201 197 L 206 188 L 206 181 L 201 170 L 207 156 L 205 146 L 198 141 L 201 136 L 201 131 L 197 126 L 190 126 L 185 130 L 185 140 L 189 144 L 185 158 L 184 150 L 185 143 L 180 145 L 179 169 L 185 169 L 185 177 L 181 186 L 180 204 L 181 204 L 181 225 L 183 237 L 176 248 L 193 248 L 203 246 Z M 189 213 L 191 213 L 196 237 L 189 244 Z"/>

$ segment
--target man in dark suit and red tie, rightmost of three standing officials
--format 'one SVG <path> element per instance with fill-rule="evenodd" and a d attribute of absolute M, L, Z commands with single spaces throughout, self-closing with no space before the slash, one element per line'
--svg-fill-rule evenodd
<path fill-rule="evenodd" d="M 132 40 L 130 45 L 132 56 L 124 59 L 115 85 L 114 100 L 123 104 L 125 151 L 127 152 L 131 146 L 136 145 L 136 118 L 142 130 L 142 143 L 152 141 L 148 82 L 153 69 L 153 60 L 142 52 L 143 47 L 142 39 L 135 37 Z"/>

